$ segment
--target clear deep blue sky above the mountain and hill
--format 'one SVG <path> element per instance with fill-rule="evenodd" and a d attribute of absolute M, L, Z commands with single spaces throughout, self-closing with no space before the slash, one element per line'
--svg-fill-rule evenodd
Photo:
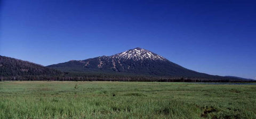
<path fill-rule="evenodd" d="M 256 78 L 252 1 L 2 0 L 0 5 L 0 55 L 50 65 L 141 47 L 198 72 Z"/>

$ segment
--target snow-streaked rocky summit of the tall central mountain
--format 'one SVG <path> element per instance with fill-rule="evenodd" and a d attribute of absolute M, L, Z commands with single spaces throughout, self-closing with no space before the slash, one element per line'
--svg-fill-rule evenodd
<path fill-rule="evenodd" d="M 149 50 L 142 49 L 142 48 L 134 48 L 130 50 L 126 50 L 125 52 L 115 54 L 111 56 L 111 58 L 121 58 L 124 60 L 134 60 L 134 61 L 139 61 L 139 60 L 161 60 L 165 61 L 166 59 L 160 55 L 157 55 L 155 53 L 150 52 Z"/>

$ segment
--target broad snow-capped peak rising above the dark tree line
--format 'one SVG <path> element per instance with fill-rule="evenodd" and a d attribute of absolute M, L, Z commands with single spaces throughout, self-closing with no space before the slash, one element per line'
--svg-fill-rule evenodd
<path fill-rule="evenodd" d="M 171 77 L 220 78 L 188 70 L 149 50 L 134 48 L 112 56 L 100 56 L 87 60 L 72 60 L 47 67 L 65 72 L 101 72 L 157 75 Z"/>

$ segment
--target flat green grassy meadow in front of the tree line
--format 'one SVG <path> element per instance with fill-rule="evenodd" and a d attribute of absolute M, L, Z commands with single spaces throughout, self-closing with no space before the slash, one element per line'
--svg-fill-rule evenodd
<path fill-rule="evenodd" d="M 256 118 L 256 85 L 0 82 L 0 118 Z"/>

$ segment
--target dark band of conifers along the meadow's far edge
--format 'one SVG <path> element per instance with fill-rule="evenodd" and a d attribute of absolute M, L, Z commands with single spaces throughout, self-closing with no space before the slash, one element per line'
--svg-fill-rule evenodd
<path fill-rule="evenodd" d="M 243 80 L 206 79 L 186 77 L 153 77 L 146 75 L 107 74 L 62 74 L 62 75 L 17 75 L 1 77 L 1 81 L 150 81 L 150 82 L 244 82 Z M 253 81 L 247 81 L 253 82 Z M 255 81 L 254 81 L 255 82 Z"/>

